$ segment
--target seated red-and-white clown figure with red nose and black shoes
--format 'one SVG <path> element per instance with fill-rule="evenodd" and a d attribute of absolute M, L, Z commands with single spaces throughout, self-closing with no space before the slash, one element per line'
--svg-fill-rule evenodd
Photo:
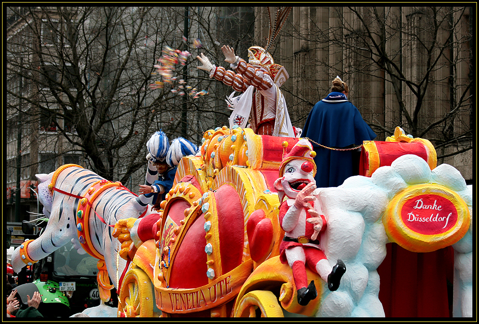
<path fill-rule="evenodd" d="M 283 146 L 286 147 L 287 142 L 284 142 Z M 321 206 L 314 206 L 314 153 L 309 141 L 300 140 L 283 157 L 279 168 L 280 178 L 274 183 L 282 202 L 279 220 L 285 231 L 280 245 L 280 261 L 287 262 L 292 269 L 298 289 L 298 303 L 302 306 L 306 306 L 317 296 L 314 281 L 308 285 L 306 264 L 328 283 L 331 291 L 338 289 L 341 277 L 346 271 L 341 260 L 331 267 L 320 249 L 321 233 L 326 230 L 327 224 L 324 215 L 320 213 Z"/>

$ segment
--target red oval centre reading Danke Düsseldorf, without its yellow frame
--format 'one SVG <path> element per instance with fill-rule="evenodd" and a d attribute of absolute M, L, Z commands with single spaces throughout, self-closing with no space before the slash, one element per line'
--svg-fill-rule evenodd
<path fill-rule="evenodd" d="M 442 234 L 457 222 L 458 212 L 454 204 L 438 195 L 420 195 L 404 203 L 401 209 L 404 224 L 412 231 L 425 234 Z"/>

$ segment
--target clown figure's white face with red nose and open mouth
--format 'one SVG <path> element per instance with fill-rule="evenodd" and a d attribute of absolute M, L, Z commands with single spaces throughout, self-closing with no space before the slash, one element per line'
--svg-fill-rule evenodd
<path fill-rule="evenodd" d="M 284 194 L 295 199 L 298 193 L 310 182 L 314 182 L 313 167 L 310 161 L 304 159 L 291 160 L 284 167 L 281 178 Z"/>

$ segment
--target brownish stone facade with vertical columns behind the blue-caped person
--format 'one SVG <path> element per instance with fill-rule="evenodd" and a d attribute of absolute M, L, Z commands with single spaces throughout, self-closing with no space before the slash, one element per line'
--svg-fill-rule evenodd
<path fill-rule="evenodd" d="M 472 183 L 473 9 L 293 7 L 270 49 L 290 76 L 283 93 L 293 125 L 304 125 L 339 75 L 376 140 L 401 126 L 435 145 L 438 165 Z M 265 46 L 268 12 L 255 13 L 255 45 Z"/>

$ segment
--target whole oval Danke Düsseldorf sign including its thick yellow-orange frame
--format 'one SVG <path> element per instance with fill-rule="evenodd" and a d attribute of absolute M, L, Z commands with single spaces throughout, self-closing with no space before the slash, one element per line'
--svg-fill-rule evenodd
<path fill-rule="evenodd" d="M 383 215 L 390 241 L 411 252 L 431 252 L 455 244 L 470 226 L 469 207 L 454 191 L 435 183 L 397 193 Z"/>

